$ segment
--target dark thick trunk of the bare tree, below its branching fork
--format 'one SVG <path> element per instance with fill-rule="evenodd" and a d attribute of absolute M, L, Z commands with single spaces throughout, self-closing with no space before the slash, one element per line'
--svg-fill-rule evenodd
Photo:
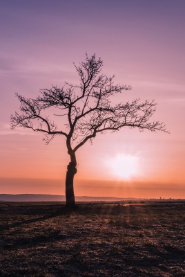
<path fill-rule="evenodd" d="M 70 155 L 70 163 L 68 164 L 68 170 L 66 172 L 66 206 L 73 208 L 75 207 L 75 195 L 73 188 L 73 180 L 77 173 L 77 161 L 75 153 Z"/>

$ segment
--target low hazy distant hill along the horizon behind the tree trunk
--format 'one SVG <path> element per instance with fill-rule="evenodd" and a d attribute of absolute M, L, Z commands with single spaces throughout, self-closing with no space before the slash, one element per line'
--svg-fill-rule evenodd
<path fill-rule="evenodd" d="M 76 202 L 121 201 L 126 198 L 76 196 Z M 130 199 L 130 198 L 129 198 Z M 65 202 L 65 195 L 0 194 L 0 202 Z"/>

